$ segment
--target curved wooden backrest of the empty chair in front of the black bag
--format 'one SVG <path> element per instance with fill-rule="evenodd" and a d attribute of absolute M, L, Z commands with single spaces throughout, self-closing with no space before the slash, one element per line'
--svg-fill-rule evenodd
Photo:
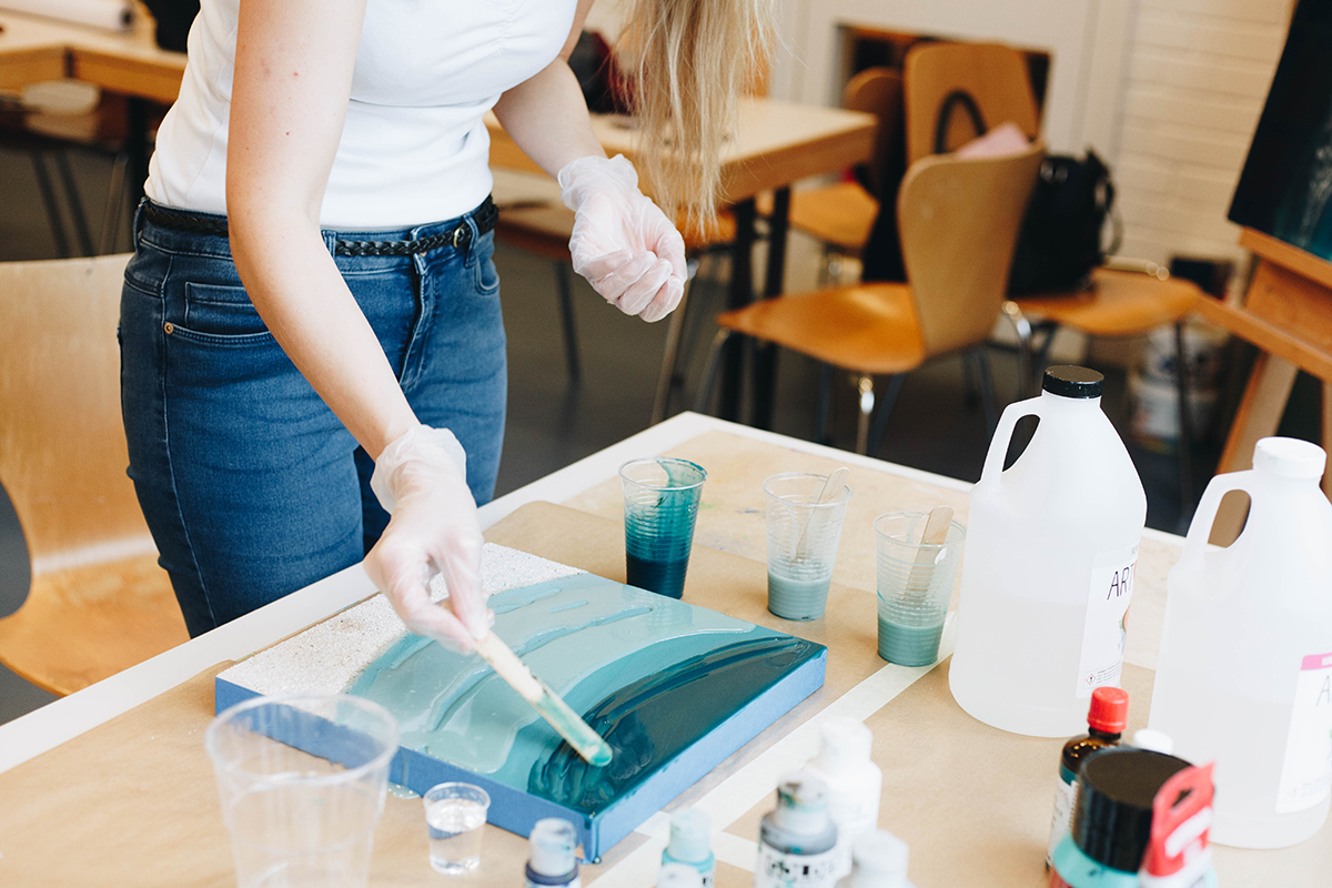
<path fill-rule="evenodd" d="M 1036 141 L 1007 157 L 935 154 L 907 170 L 898 228 L 927 354 L 983 342 L 994 329 L 1043 156 Z"/>

